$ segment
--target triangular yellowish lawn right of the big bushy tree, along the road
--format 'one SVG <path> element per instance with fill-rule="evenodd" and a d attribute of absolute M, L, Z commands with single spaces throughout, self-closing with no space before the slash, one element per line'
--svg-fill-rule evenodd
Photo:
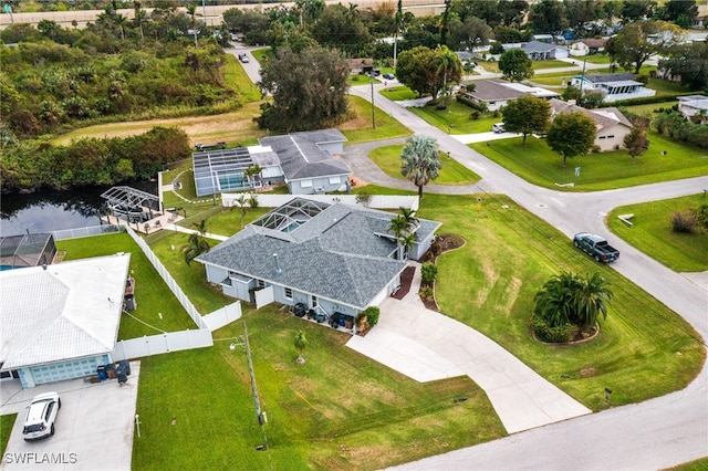
<path fill-rule="evenodd" d="M 374 98 L 374 105 L 375 102 L 376 98 Z M 354 117 L 337 126 L 337 129 L 346 136 L 347 144 L 410 135 L 410 129 L 378 107 L 374 107 L 376 123 L 376 128 L 374 129 L 372 126 L 372 104 L 364 98 L 350 95 L 350 109 Z"/>

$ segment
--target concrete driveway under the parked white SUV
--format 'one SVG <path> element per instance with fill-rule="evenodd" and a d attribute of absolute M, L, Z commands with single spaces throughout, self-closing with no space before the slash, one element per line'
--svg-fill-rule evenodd
<path fill-rule="evenodd" d="M 139 362 L 131 362 L 127 383 L 116 379 L 88 383 L 84 379 L 22 389 L 19 381 L 0 386 L 0 414 L 18 412 L 3 470 L 129 470 Z M 22 438 L 24 408 L 39 394 L 58 391 L 62 408 L 53 437 L 33 442 Z"/>

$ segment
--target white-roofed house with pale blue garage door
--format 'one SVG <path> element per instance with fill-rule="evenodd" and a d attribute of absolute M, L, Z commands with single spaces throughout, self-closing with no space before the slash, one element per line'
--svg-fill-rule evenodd
<path fill-rule="evenodd" d="M 22 386 L 113 362 L 129 254 L 0 272 L 0 370 Z"/>

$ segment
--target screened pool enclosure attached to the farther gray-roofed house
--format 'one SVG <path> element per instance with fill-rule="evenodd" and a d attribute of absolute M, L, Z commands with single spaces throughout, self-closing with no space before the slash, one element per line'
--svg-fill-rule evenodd
<path fill-rule="evenodd" d="M 198 197 L 251 188 L 246 169 L 253 160 L 246 147 L 194 153 L 191 161 Z"/>

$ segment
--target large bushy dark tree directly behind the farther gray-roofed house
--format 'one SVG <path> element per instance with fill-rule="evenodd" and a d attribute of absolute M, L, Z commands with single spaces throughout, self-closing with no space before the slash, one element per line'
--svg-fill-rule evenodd
<path fill-rule="evenodd" d="M 262 129 L 282 132 L 321 129 L 346 117 L 350 74 L 341 52 L 308 48 L 295 54 L 289 48 L 262 64 L 258 86 L 273 95 L 256 118 Z"/>

